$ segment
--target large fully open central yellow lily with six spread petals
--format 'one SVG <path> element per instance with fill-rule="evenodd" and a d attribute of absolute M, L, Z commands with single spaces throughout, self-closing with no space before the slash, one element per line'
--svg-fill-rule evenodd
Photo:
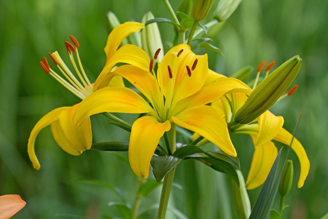
<path fill-rule="evenodd" d="M 198 132 L 216 144 L 222 151 L 236 156 L 227 123 L 211 106 L 222 95 L 233 92 L 251 92 L 251 89 L 235 78 L 219 78 L 215 82 L 207 78 L 207 54 L 196 55 L 190 46 L 181 44 L 172 48 L 159 62 L 157 74 L 153 70 L 154 59 L 147 53 L 134 48 L 131 56 L 144 59 L 149 69 L 133 65 L 120 66 L 112 72 L 102 74 L 98 88 L 111 81 L 114 76 L 126 78 L 150 102 L 132 89 L 106 87 L 85 98 L 77 108 L 74 123 L 80 126 L 90 115 L 100 112 L 147 113 L 132 125 L 129 143 L 129 161 L 136 175 L 147 178 L 149 165 L 160 137 L 171 128 L 171 124 Z M 131 57 L 135 58 L 135 57 Z M 140 65 L 140 64 L 139 64 Z M 207 81 L 208 79 L 208 81 Z M 207 86 L 203 85 L 207 83 Z M 96 84 L 95 84 L 96 86 Z"/>

